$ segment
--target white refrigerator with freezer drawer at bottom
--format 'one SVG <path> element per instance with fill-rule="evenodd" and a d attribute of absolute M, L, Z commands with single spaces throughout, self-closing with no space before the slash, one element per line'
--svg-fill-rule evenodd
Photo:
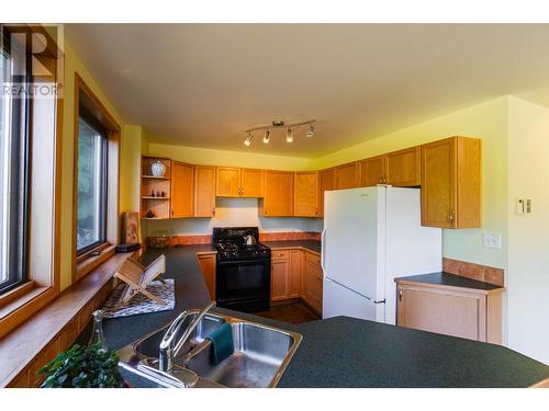
<path fill-rule="evenodd" d="M 394 278 L 441 271 L 441 229 L 422 227 L 421 214 L 419 189 L 325 193 L 323 318 L 396 322 Z"/>

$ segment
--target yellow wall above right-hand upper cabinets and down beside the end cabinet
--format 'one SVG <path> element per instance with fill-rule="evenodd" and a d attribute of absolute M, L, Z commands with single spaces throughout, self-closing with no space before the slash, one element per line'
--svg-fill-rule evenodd
<path fill-rule="evenodd" d="M 507 244 L 507 98 L 503 96 L 401 129 L 316 159 L 325 168 L 450 136 L 482 139 L 483 227 L 444 230 L 444 255 L 506 267 Z M 502 249 L 483 247 L 484 232 L 502 236 Z"/>

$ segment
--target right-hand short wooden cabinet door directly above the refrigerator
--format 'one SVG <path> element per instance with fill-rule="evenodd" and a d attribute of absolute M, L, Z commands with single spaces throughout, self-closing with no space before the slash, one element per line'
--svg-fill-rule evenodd
<path fill-rule="evenodd" d="M 421 185 L 421 157 L 419 146 L 386 155 L 386 183 L 401 187 Z"/>

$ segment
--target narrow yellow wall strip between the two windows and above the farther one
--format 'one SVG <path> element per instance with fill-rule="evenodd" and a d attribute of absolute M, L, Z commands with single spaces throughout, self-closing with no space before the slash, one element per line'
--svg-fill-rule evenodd
<path fill-rule="evenodd" d="M 122 125 L 122 117 L 104 96 L 101 88 L 82 66 L 70 45 L 65 42 L 65 83 L 63 119 L 63 172 L 61 172 L 61 221 L 60 221 L 60 288 L 71 283 L 71 251 L 74 250 L 72 227 L 72 175 L 74 175 L 74 113 L 75 113 L 75 72 L 83 79 L 111 115 Z"/>

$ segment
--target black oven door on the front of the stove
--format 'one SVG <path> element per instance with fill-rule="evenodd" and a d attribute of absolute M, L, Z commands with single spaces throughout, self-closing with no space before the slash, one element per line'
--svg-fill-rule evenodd
<path fill-rule="evenodd" d="M 215 293 L 220 307 L 242 309 L 247 301 L 254 305 L 270 298 L 270 259 L 217 262 Z"/>

